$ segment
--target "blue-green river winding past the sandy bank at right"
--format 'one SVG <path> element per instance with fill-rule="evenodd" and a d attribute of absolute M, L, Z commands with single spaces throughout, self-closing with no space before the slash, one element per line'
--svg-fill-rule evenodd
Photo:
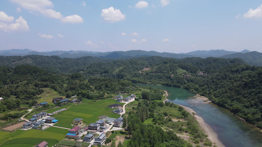
<path fill-rule="evenodd" d="M 218 139 L 225 147 L 262 147 L 261 130 L 254 125 L 242 122 L 229 110 L 212 103 L 192 104 L 190 100 L 195 94 L 182 88 L 143 86 L 166 90 L 169 94 L 168 101 L 193 109 L 217 133 Z"/>

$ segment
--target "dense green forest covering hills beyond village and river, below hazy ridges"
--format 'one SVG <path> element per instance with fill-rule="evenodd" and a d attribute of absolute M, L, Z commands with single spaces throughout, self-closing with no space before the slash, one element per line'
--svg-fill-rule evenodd
<path fill-rule="evenodd" d="M 12 101 L 13 105 L 34 100 L 42 87 L 67 96 L 93 98 L 94 91 L 99 92 L 96 97 L 102 97 L 113 89 L 128 91 L 132 83 L 158 84 L 203 95 L 262 128 L 262 68 L 237 58 L 151 56 L 117 60 L 30 55 L 0 57 L 0 66 L 0 97 L 13 95 L 20 99 Z M 1 104 L 7 106 L 4 101 Z"/>

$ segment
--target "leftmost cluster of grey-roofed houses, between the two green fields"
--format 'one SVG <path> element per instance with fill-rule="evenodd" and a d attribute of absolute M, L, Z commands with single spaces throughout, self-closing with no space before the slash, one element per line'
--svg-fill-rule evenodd
<path fill-rule="evenodd" d="M 56 120 L 53 117 L 48 117 L 46 119 L 43 119 L 46 116 L 47 116 L 47 112 L 40 112 L 38 114 L 33 115 L 32 118 L 29 119 L 29 122 L 23 124 L 23 128 L 24 129 L 42 128 L 45 125 L 45 123 L 57 123 L 58 122 L 58 120 Z M 37 121 L 39 119 L 42 119 L 42 120 Z"/>

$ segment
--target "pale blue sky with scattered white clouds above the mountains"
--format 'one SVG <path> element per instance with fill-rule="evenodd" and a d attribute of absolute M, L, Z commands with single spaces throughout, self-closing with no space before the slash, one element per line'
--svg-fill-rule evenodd
<path fill-rule="evenodd" d="M 0 0 L 0 50 L 262 52 L 261 0 Z"/>

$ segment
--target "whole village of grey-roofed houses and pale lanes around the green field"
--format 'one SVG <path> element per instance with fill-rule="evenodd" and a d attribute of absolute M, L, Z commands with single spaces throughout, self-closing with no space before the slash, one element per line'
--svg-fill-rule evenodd
<path fill-rule="evenodd" d="M 108 107 L 113 109 L 112 113 L 116 113 L 120 116 L 118 118 L 110 118 L 104 115 L 98 117 L 98 120 L 96 122 L 90 124 L 83 123 L 82 118 L 75 118 L 74 120 L 72 120 L 72 124 L 71 124 L 73 128 L 55 126 L 54 124 L 59 123 L 59 120 L 57 120 L 52 116 L 66 110 L 65 108 L 63 108 L 54 111 L 52 113 L 47 113 L 43 111 L 38 114 L 32 115 L 32 118 L 29 120 L 24 119 L 27 123 L 23 124 L 22 130 L 28 130 L 28 129 L 45 130 L 49 127 L 58 127 L 68 130 L 68 133 L 65 135 L 65 138 L 67 139 L 75 140 L 78 142 L 87 142 L 90 144 L 88 147 L 91 147 L 92 145 L 103 146 L 107 138 L 106 132 L 123 130 L 123 128 L 121 128 L 123 125 L 123 117 L 121 116 L 125 113 L 125 105 L 129 102 L 134 101 L 135 98 L 136 98 L 135 95 L 130 95 L 126 98 L 123 98 L 123 96 L 121 95 L 117 95 L 115 98 L 116 102 L 122 102 L 125 104 L 121 105 L 115 103 L 115 104 L 108 105 Z M 58 101 L 62 103 L 62 102 L 67 102 L 69 100 L 62 99 L 62 98 L 53 98 L 54 103 L 57 103 Z M 75 102 L 75 101 L 76 101 L 75 99 L 71 100 L 71 102 Z M 43 104 L 45 103 L 40 103 L 40 105 Z M 46 141 L 43 141 L 35 147 L 47 147 L 47 146 L 48 143 Z"/>

